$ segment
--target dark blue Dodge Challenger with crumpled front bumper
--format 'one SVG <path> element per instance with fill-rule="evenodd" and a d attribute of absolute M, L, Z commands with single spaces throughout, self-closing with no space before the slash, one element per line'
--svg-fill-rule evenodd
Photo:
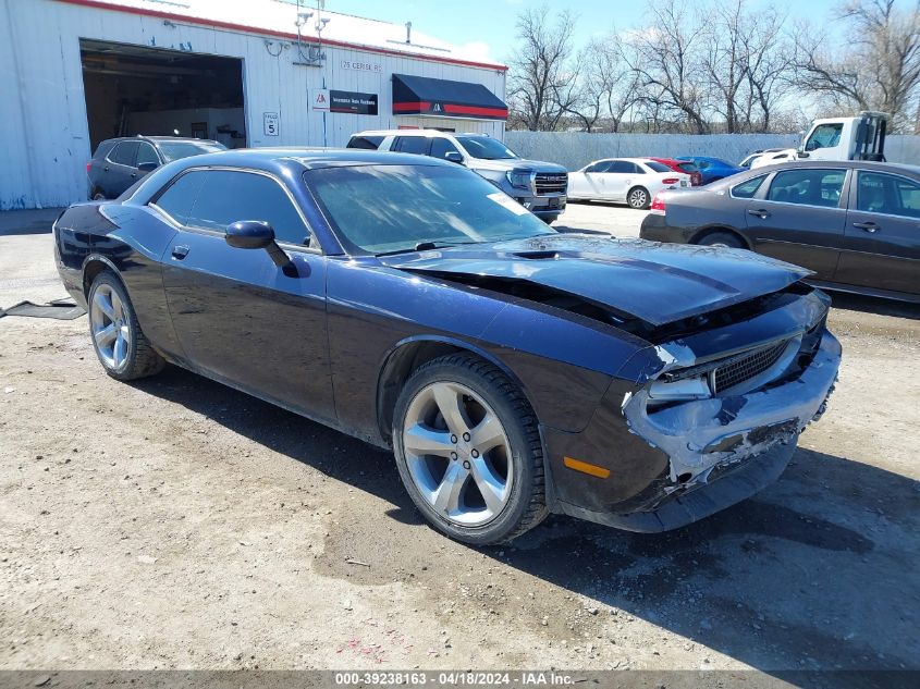
<path fill-rule="evenodd" d="M 421 156 L 188 158 L 71 207 L 54 239 L 109 376 L 170 361 L 392 447 L 428 521 L 474 544 L 550 512 L 663 531 L 748 497 L 841 360 L 807 271 L 561 234 Z"/>

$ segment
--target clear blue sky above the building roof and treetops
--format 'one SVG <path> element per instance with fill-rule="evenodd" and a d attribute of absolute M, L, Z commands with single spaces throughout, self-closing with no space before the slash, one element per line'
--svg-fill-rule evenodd
<path fill-rule="evenodd" d="M 410 21 L 413 30 L 457 46 L 469 45 L 480 59 L 503 62 L 514 44 L 515 20 L 527 8 L 547 5 L 577 13 L 576 45 L 593 34 L 603 35 L 645 25 L 643 15 L 653 0 L 327 0 L 327 10 L 344 12 L 397 24 Z M 690 2 L 690 0 L 688 0 Z M 309 4 L 311 4 L 308 1 Z M 790 20 L 824 22 L 834 0 L 750 0 L 751 8 L 774 4 L 785 9 Z"/>

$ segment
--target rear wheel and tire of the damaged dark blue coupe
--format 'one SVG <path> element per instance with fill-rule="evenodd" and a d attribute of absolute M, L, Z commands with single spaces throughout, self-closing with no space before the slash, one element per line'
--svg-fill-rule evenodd
<path fill-rule="evenodd" d="M 106 373 L 126 381 L 159 373 L 165 361 L 140 330 L 121 281 L 103 271 L 89 288 L 89 335 Z"/>

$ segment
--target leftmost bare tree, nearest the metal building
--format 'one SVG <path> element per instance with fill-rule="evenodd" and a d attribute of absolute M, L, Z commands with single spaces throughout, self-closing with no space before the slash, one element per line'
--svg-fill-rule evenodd
<path fill-rule="evenodd" d="M 518 46 L 510 60 L 511 106 L 530 131 L 553 131 L 580 98 L 573 60 L 575 16 L 561 12 L 551 21 L 545 7 L 517 17 Z"/>

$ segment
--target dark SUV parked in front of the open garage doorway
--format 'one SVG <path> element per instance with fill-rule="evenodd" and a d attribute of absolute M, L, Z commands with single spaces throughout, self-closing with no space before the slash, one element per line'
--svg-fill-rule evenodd
<path fill-rule="evenodd" d="M 86 163 L 89 198 L 116 198 L 151 170 L 163 163 L 225 150 L 219 142 L 174 136 L 133 136 L 106 139 Z"/>

